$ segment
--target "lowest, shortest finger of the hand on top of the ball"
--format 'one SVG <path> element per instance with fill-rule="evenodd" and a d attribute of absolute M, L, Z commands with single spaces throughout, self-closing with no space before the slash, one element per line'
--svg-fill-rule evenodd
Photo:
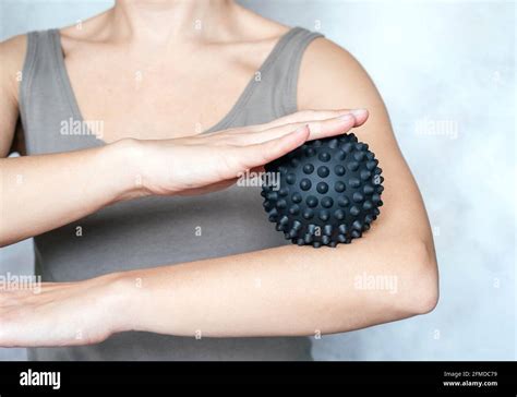
<path fill-rule="evenodd" d="M 309 128 L 302 125 L 297 130 L 284 134 L 279 137 L 252 144 L 249 146 L 240 146 L 235 149 L 239 152 L 240 165 L 245 169 L 261 167 L 285 154 L 301 146 L 309 139 Z"/>

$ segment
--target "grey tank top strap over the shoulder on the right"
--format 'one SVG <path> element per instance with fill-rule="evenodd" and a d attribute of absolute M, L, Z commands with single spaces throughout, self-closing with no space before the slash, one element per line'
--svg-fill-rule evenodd
<path fill-rule="evenodd" d="M 282 117 L 298 110 L 297 86 L 300 64 L 306 47 L 315 38 L 324 37 L 321 33 L 303 27 L 293 27 L 284 35 L 274 52 L 263 65 L 265 85 L 262 86 L 272 99 L 274 117 Z M 258 99 L 258 98 L 257 98 Z M 262 100 L 264 98 L 262 97 Z"/>

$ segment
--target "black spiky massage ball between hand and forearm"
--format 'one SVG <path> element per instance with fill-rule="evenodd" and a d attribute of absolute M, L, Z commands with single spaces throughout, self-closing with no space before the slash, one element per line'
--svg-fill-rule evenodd
<path fill-rule="evenodd" d="M 384 178 L 377 165 L 352 133 L 308 142 L 265 166 L 264 208 L 296 244 L 350 243 L 380 215 Z"/>

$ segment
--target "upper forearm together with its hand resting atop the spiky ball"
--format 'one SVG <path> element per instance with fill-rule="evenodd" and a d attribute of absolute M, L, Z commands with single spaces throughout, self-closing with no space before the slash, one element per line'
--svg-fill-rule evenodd
<path fill-rule="evenodd" d="M 0 158 L 0 246 L 116 202 L 224 189 L 240 172 L 257 170 L 308 140 L 347 132 L 366 118 L 365 110 L 301 111 L 267 124 L 196 136 L 128 139 L 82 151 Z"/>

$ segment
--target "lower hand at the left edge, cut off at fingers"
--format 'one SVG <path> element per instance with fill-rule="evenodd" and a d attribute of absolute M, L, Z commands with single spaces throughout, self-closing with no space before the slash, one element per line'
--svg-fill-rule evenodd
<path fill-rule="evenodd" d="M 118 275 L 0 290 L 0 346 L 72 346 L 123 330 L 129 309 Z"/>

